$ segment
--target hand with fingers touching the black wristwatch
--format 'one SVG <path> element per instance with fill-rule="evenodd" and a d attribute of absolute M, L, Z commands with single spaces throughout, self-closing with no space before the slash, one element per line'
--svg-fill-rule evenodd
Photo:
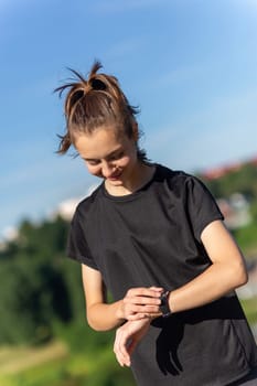
<path fill-rule="evenodd" d="M 163 288 L 160 287 L 138 287 L 127 291 L 120 301 L 119 317 L 126 320 L 139 320 L 143 318 L 154 318 L 160 313 L 160 296 Z"/>

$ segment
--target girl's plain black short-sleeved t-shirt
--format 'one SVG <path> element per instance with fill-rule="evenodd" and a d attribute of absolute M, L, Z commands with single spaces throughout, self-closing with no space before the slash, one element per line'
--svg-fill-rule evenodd
<path fill-rule="evenodd" d="M 101 272 L 115 300 L 129 288 L 169 290 L 211 264 L 201 233 L 223 216 L 194 176 L 157 165 L 152 180 L 126 196 L 104 183 L 77 207 L 68 256 Z M 157 319 L 132 356 L 139 385 L 223 386 L 257 365 L 256 345 L 236 294 Z"/>

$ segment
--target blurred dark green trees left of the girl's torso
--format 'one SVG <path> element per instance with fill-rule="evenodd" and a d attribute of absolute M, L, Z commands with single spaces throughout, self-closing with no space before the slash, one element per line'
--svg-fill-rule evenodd
<path fill-rule="evenodd" d="M 72 319 L 61 264 L 66 229 L 61 218 L 40 226 L 24 222 L 1 253 L 0 343 L 42 343 L 52 337 L 55 319 Z"/>

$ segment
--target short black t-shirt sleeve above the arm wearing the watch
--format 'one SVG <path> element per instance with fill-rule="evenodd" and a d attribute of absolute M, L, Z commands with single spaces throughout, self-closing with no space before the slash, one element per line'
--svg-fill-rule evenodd
<path fill-rule="evenodd" d="M 203 229 L 216 219 L 224 219 L 215 199 L 196 178 L 186 181 L 186 205 L 194 237 L 201 243 Z"/>

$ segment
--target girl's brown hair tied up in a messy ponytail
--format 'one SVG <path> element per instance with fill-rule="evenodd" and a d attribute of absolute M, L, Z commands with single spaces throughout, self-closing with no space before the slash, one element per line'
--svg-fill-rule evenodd
<path fill-rule="evenodd" d="M 97 74 L 99 68 L 101 64 L 95 62 L 87 79 L 69 68 L 75 78 L 54 90 L 58 92 L 60 97 L 64 90 L 68 90 L 64 103 L 66 133 L 58 136 L 60 154 L 66 153 L 69 147 L 74 146 L 76 133 L 90 133 L 104 125 L 114 126 L 128 138 L 133 136 L 138 108 L 129 104 L 118 79 L 111 75 Z M 139 149 L 138 143 L 137 151 L 141 161 L 148 160 L 146 151 Z"/>

